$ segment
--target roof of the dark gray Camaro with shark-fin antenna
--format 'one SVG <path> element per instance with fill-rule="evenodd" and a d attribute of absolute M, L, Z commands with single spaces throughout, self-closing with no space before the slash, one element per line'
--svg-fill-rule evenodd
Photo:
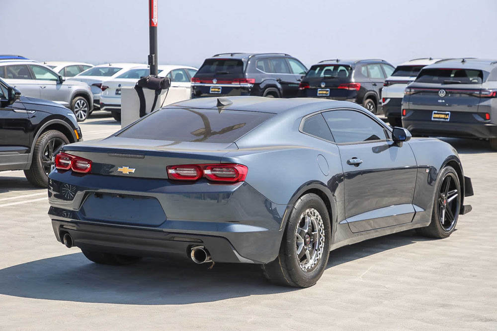
<path fill-rule="evenodd" d="M 225 105 L 220 106 L 218 105 Z M 208 97 L 184 100 L 168 105 L 165 108 L 198 108 L 239 110 L 259 113 L 280 114 L 290 110 L 307 115 L 313 111 L 321 111 L 331 108 L 357 108 L 357 104 L 346 101 L 336 101 L 318 98 L 266 98 L 256 96 L 236 97 Z"/>

